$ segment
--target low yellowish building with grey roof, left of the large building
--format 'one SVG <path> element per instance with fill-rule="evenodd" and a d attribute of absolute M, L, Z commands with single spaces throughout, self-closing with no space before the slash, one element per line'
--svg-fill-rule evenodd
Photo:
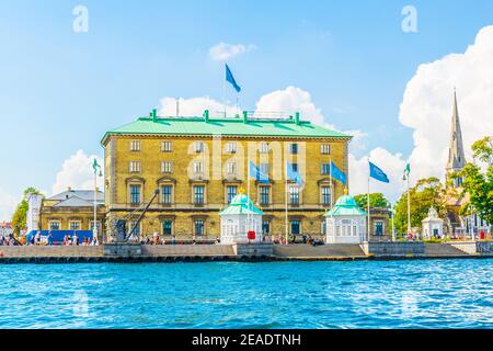
<path fill-rule="evenodd" d="M 96 193 L 96 228 L 102 235 L 105 220 L 104 194 Z M 93 230 L 94 191 L 72 190 L 44 199 L 39 211 L 39 230 Z"/>

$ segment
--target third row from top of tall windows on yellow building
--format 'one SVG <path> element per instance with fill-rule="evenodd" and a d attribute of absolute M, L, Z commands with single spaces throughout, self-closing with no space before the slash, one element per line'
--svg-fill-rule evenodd
<path fill-rule="evenodd" d="M 173 185 L 161 185 L 160 189 L 160 203 L 162 205 L 172 205 L 173 203 Z M 232 199 L 238 194 L 238 185 L 227 185 L 226 196 L 227 203 L 230 204 Z M 299 205 L 299 188 L 289 188 L 289 204 Z M 130 204 L 140 205 L 142 201 L 141 185 L 130 184 Z M 331 188 L 321 186 L 321 203 L 322 205 L 329 205 L 331 202 Z M 205 205 L 205 185 L 193 186 L 193 203 L 196 206 Z M 259 186 L 259 203 L 261 206 L 267 206 L 271 204 L 271 186 Z"/>

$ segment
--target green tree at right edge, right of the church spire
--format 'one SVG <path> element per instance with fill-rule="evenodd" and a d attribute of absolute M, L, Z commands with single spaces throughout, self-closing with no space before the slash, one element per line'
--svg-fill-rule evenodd
<path fill-rule="evenodd" d="M 472 145 L 474 159 L 485 163 L 485 172 L 480 165 L 467 163 L 455 177 L 462 177 L 462 194 L 469 194 L 469 203 L 462 212 L 475 212 L 485 222 L 493 223 L 493 136 Z M 472 206 L 472 208 L 471 208 Z"/>

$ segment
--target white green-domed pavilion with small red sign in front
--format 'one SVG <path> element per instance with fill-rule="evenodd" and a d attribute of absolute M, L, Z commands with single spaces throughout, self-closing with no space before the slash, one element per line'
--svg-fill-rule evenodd
<path fill-rule="evenodd" d="M 262 242 L 262 215 L 263 212 L 245 194 L 239 193 L 228 207 L 219 212 L 221 244 Z M 249 241 L 249 230 L 255 231 L 254 240 Z"/>

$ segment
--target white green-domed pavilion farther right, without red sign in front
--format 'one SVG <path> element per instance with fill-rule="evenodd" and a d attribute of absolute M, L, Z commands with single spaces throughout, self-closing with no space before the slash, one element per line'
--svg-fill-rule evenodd
<path fill-rule="evenodd" d="M 362 244 L 366 240 L 367 213 L 347 191 L 326 212 L 325 218 L 326 244 Z"/>

